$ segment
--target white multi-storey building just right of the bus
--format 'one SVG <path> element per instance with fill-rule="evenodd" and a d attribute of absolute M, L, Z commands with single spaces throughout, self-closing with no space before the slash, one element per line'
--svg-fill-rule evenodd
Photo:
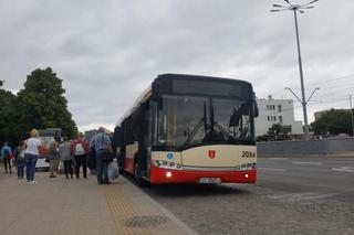
<path fill-rule="evenodd" d="M 292 99 L 257 99 L 259 116 L 254 119 L 256 136 L 268 133 L 273 124 L 287 127 L 292 135 L 302 135 L 302 121 L 296 121 Z"/>

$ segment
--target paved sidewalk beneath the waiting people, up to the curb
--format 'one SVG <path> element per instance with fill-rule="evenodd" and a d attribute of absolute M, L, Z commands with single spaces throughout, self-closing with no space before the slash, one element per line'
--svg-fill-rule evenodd
<path fill-rule="evenodd" d="M 2 169 L 3 170 L 3 169 Z M 194 234 L 122 175 L 111 185 L 90 179 L 50 179 L 37 185 L 0 173 L 0 234 Z"/>

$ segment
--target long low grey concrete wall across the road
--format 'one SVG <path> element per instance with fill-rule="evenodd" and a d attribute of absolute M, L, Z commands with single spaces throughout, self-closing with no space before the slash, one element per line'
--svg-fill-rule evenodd
<path fill-rule="evenodd" d="M 257 143 L 259 157 L 354 156 L 354 138 Z"/>

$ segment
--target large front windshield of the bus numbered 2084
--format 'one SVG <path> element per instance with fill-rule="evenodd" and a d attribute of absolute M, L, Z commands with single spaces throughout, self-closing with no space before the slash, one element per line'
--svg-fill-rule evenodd
<path fill-rule="evenodd" d="M 159 146 L 177 149 L 253 140 L 251 103 L 165 95 L 158 115 Z"/>

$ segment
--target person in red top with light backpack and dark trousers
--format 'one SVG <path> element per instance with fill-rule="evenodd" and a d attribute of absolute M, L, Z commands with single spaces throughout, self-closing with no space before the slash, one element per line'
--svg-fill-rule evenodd
<path fill-rule="evenodd" d="M 75 158 L 75 173 L 76 179 L 80 178 L 80 167 L 82 165 L 83 177 L 87 178 L 87 154 L 88 141 L 84 138 L 82 132 L 79 132 L 76 139 L 71 142 L 71 154 Z"/>

